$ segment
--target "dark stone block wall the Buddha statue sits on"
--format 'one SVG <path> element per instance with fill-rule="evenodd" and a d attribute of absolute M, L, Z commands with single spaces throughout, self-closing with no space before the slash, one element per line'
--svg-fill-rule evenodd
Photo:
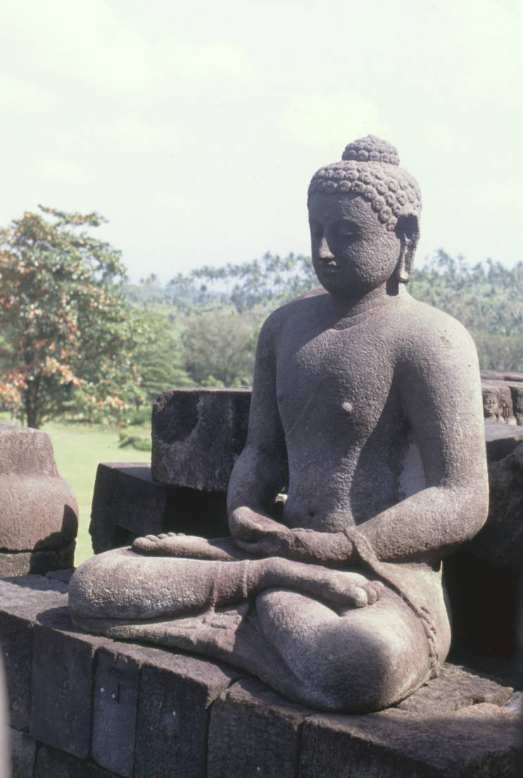
<path fill-rule="evenodd" d="M 520 774 L 521 692 L 482 674 L 446 664 L 395 708 L 318 713 L 243 671 L 79 633 L 66 590 L 0 580 L 13 778 Z"/>

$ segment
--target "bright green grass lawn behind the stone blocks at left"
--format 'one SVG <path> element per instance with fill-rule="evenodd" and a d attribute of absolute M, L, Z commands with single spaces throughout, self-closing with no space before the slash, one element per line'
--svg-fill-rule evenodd
<path fill-rule="evenodd" d="M 2 414 L 3 422 L 12 420 Z M 119 448 L 121 429 L 106 429 L 101 424 L 75 424 L 48 422 L 42 429 L 51 435 L 54 458 L 60 475 L 67 478 L 74 489 L 79 506 L 79 531 L 76 540 L 75 565 L 93 555 L 89 522 L 93 499 L 94 479 L 99 462 L 149 462 L 150 451 L 138 451 L 132 447 Z M 147 438 L 150 428 L 132 426 L 125 432 Z"/>

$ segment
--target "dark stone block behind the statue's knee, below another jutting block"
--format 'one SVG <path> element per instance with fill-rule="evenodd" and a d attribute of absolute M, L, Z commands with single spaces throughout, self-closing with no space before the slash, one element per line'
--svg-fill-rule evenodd
<path fill-rule="evenodd" d="M 169 531 L 228 534 L 225 494 L 160 484 L 142 463 L 98 465 L 90 524 L 95 553 Z"/>

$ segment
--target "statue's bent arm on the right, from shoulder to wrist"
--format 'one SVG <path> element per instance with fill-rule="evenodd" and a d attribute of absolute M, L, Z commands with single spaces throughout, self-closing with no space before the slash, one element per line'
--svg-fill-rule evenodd
<path fill-rule="evenodd" d="M 441 315 L 441 314 L 440 314 Z M 402 405 L 426 488 L 360 524 L 379 559 L 437 562 L 483 526 L 485 432 L 476 349 L 461 324 L 435 317 L 399 360 Z"/>

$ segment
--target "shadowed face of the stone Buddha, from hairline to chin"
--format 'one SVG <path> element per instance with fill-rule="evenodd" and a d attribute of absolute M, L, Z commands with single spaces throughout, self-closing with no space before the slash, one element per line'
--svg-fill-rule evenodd
<path fill-rule="evenodd" d="M 309 225 L 314 271 L 332 295 L 360 300 L 394 275 L 402 241 L 358 195 L 315 192 Z"/>

